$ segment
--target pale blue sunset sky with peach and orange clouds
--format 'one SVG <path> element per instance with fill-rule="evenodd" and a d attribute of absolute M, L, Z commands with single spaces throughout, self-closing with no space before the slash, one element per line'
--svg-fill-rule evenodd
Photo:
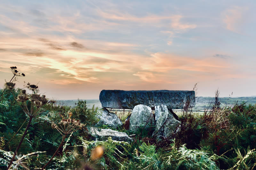
<path fill-rule="evenodd" d="M 105 90 L 256 95 L 256 1 L 0 0 L 0 86 L 11 66 L 56 100 Z"/>

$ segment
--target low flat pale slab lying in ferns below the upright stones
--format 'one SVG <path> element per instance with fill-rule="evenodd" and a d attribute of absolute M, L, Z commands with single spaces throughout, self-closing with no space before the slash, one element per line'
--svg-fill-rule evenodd
<path fill-rule="evenodd" d="M 100 141 L 108 140 L 108 137 L 111 137 L 112 140 L 116 141 L 125 141 L 125 142 L 132 142 L 133 139 L 129 137 L 124 132 L 118 132 L 116 130 L 111 129 L 98 129 L 91 127 L 89 129 L 90 134 Z"/>

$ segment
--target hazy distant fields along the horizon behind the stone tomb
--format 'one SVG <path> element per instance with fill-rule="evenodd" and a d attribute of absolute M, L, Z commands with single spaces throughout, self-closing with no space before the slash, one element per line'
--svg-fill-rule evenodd
<path fill-rule="evenodd" d="M 219 98 L 219 100 L 220 100 L 221 106 L 232 106 L 236 102 L 240 104 L 243 101 L 246 102 L 246 104 L 252 104 L 252 105 L 256 104 L 256 97 L 238 97 L 238 98 L 223 97 L 223 98 Z M 63 103 L 66 106 L 75 107 L 75 103 L 77 103 L 77 101 L 78 100 L 58 100 L 57 104 Z M 214 97 L 197 97 L 196 106 L 193 108 L 193 111 L 195 112 L 204 111 L 204 109 L 207 108 L 210 103 L 214 103 L 214 101 L 215 101 Z M 97 100 L 97 99 L 86 100 L 86 104 L 89 109 L 91 109 L 93 105 L 94 107 L 101 107 L 100 100 Z M 112 112 L 115 112 L 115 111 L 116 111 L 115 109 L 112 109 Z M 174 112 L 175 111 L 180 112 L 179 109 L 174 110 Z"/>

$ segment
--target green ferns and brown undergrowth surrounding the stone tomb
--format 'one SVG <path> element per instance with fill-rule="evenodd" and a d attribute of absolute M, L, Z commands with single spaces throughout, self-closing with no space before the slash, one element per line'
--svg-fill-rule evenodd
<path fill-rule="evenodd" d="M 13 157 L 11 169 L 256 169 L 256 105 L 220 107 L 217 91 L 203 115 L 184 109 L 170 137 L 156 139 L 150 127 L 138 129 L 132 143 L 93 141 L 88 128 L 97 123 L 98 108 L 83 100 L 74 108 L 57 105 L 37 88 L 31 94 L 15 89 L 17 68 L 11 69 L 13 78 L 0 90 L 1 169 Z"/>

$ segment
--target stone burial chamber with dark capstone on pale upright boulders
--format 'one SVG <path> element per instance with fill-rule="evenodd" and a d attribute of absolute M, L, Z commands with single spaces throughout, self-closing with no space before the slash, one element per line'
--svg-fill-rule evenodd
<path fill-rule="evenodd" d="M 168 137 L 175 133 L 180 124 L 179 117 L 172 109 L 195 107 L 195 91 L 102 90 L 100 103 L 103 108 L 98 115 L 99 125 L 104 124 L 113 128 L 123 125 L 120 119 L 107 108 L 132 109 L 132 114 L 125 122 L 127 129 L 136 131 L 140 127 L 148 128 L 153 125 L 156 126 L 153 133 L 156 137 Z M 155 114 L 152 114 L 152 110 L 155 110 Z"/>

